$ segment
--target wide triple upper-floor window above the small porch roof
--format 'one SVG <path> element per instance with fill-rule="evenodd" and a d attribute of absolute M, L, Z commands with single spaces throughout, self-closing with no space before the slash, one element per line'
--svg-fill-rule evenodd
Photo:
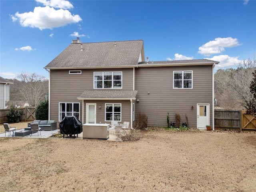
<path fill-rule="evenodd" d="M 113 88 L 122 88 L 122 72 L 94 72 L 94 89 Z"/>

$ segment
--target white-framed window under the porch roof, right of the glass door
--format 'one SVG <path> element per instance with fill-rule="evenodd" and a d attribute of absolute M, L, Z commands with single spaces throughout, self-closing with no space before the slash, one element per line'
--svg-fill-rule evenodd
<path fill-rule="evenodd" d="M 105 121 L 121 121 L 121 104 L 106 103 L 105 104 Z"/>

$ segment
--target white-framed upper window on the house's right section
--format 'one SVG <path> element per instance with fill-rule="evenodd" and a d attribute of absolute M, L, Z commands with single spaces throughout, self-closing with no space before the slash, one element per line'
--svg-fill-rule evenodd
<path fill-rule="evenodd" d="M 193 88 L 193 71 L 174 71 L 173 88 L 174 89 L 191 89 Z"/>

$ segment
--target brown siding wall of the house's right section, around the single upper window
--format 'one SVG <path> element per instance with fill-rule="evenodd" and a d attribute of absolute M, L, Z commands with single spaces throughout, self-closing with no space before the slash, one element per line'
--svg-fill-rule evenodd
<path fill-rule="evenodd" d="M 193 71 L 192 89 L 173 89 L 173 71 L 179 70 Z M 212 66 L 136 68 L 135 74 L 136 98 L 140 100 L 136 111 L 146 113 L 148 126 L 167 126 L 167 112 L 170 122 L 175 122 L 175 112 L 178 112 L 181 123 L 186 122 L 187 114 L 190 127 L 196 128 L 197 103 L 210 104 L 212 124 Z"/>

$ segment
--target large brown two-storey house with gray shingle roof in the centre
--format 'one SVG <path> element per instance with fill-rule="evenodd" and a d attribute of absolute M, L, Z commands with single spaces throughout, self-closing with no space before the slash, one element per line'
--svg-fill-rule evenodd
<path fill-rule="evenodd" d="M 82 123 L 128 121 L 137 112 L 148 126 L 214 123 L 212 60 L 145 61 L 143 40 L 82 43 L 72 40 L 44 68 L 49 72 L 49 119 L 77 116 Z"/>

